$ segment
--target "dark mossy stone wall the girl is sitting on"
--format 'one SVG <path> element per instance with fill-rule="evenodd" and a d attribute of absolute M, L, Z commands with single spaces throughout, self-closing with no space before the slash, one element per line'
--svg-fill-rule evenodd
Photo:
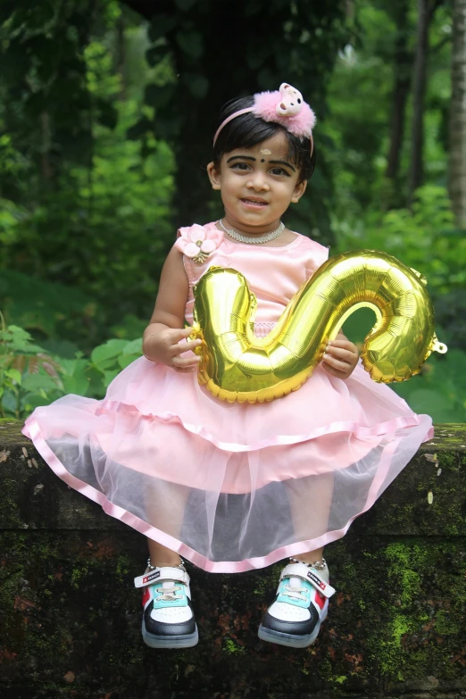
<path fill-rule="evenodd" d="M 0 421 L 3 699 L 466 697 L 466 427 L 438 425 L 372 510 L 326 551 L 337 595 L 315 645 L 257 638 L 281 566 L 189 567 L 200 642 L 139 637 L 146 545 L 56 478 Z"/>

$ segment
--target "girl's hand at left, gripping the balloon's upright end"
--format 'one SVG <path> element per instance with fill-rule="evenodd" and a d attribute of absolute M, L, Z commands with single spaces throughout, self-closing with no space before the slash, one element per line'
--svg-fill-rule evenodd
<path fill-rule="evenodd" d="M 150 326 L 149 326 L 150 327 Z M 192 333 L 192 329 L 159 328 L 151 329 L 144 341 L 144 354 L 151 362 L 161 362 L 179 373 L 196 371 L 201 358 L 196 356 L 181 357 L 181 354 L 194 350 L 201 345 L 201 340 L 180 342 Z"/>

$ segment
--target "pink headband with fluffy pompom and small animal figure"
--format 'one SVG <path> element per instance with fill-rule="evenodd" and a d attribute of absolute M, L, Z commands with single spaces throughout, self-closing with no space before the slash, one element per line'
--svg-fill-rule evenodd
<path fill-rule="evenodd" d="M 296 90 L 295 87 L 291 87 L 291 85 L 288 85 L 286 82 L 282 83 L 279 90 L 275 90 L 274 92 L 256 93 L 254 95 L 254 104 L 252 107 L 245 107 L 245 109 L 240 109 L 238 112 L 230 114 L 225 121 L 221 122 L 221 125 L 217 129 L 213 137 L 213 145 L 215 146 L 221 129 L 223 129 L 229 121 L 236 119 L 237 116 L 241 116 L 241 114 L 247 114 L 248 112 L 253 112 L 255 116 L 261 117 L 263 121 L 275 121 L 277 124 L 281 124 L 281 126 L 284 126 L 285 129 L 294 136 L 309 138 L 311 140 L 312 155 L 314 149 L 312 129 L 315 125 L 315 114 L 312 112 L 309 104 L 304 102 L 303 96 L 299 90 Z"/>

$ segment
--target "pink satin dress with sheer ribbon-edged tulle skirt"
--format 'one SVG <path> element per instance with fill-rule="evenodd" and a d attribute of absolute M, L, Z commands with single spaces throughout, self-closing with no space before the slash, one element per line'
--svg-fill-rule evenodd
<path fill-rule="evenodd" d="M 266 335 L 327 248 L 296 235 L 284 247 L 214 241 L 184 257 L 192 321 L 196 281 L 212 265 L 245 275 Z M 181 229 L 183 240 L 192 229 Z M 220 238 L 219 238 L 220 235 Z M 213 572 L 262 568 L 345 535 L 432 437 L 389 387 L 358 365 L 349 379 L 320 366 L 295 393 L 229 404 L 141 357 L 102 401 L 66 395 L 23 429 L 54 472 L 104 511 Z"/>

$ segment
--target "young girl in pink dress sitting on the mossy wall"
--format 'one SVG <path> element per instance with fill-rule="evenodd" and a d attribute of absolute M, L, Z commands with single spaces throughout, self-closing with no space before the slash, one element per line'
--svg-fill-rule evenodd
<path fill-rule="evenodd" d="M 144 357 L 103 401 L 68 395 L 37 410 L 24 433 L 69 486 L 147 537 L 142 633 L 152 647 L 196 645 L 189 578 L 241 572 L 283 558 L 259 628 L 271 643 L 305 647 L 327 616 L 324 545 L 343 537 L 431 438 L 415 415 L 358 364 L 342 334 L 298 391 L 265 404 L 227 403 L 199 386 L 185 319 L 209 268 L 245 275 L 264 337 L 328 256 L 281 217 L 314 169 L 314 115 L 293 87 L 226 104 L 207 167 L 221 221 L 179 230 L 162 270 Z M 219 299 L 221 303 L 221 299 Z"/>

